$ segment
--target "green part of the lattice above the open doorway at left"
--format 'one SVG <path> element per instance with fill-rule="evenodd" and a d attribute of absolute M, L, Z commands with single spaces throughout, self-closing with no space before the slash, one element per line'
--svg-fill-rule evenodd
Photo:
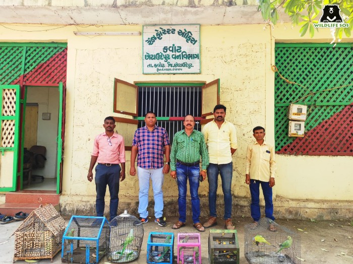
<path fill-rule="evenodd" d="M 0 43 L 0 85 L 12 84 L 21 75 L 63 51 L 66 44 Z"/>

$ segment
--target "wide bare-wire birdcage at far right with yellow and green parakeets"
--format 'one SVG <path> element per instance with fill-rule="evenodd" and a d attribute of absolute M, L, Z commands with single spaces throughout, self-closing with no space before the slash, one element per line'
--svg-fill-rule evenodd
<path fill-rule="evenodd" d="M 270 231 L 272 225 L 272 231 Z M 249 263 L 301 263 L 300 235 L 269 218 L 245 225 L 245 257 Z"/>

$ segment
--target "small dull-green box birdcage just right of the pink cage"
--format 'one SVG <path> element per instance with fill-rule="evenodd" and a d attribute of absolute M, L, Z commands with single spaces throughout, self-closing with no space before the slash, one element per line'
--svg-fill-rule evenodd
<path fill-rule="evenodd" d="M 210 264 L 239 264 L 237 230 L 211 229 L 208 237 L 208 260 Z"/>

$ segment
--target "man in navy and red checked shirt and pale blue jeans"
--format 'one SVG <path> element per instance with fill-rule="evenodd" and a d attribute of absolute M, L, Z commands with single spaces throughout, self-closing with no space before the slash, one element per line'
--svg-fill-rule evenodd
<path fill-rule="evenodd" d="M 146 125 L 135 131 L 131 149 L 130 175 L 136 175 L 135 161 L 137 156 L 137 174 L 139 178 L 139 214 L 141 223 L 148 222 L 148 190 L 150 178 L 154 195 L 154 216 L 159 226 L 166 226 L 163 218 L 163 191 L 164 174 L 169 172 L 170 144 L 167 131 L 156 125 L 154 112 L 145 115 Z M 163 150 L 165 151 L 164 164 Z"/>

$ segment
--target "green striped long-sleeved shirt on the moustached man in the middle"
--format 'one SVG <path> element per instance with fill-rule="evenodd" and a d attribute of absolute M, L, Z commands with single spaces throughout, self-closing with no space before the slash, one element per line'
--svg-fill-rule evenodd
<path fill-rule="evenodd" d="M 194 163 L 202 158 L 202 169 L 205 170 L 209 164 L 208 152 L 203 134 L 193 130 L 190 137 L 185 129 L 175 133 L 173 145 L 170 152 L 170 170 L 176 170 L 177 159 L 185 163 Z"/>

